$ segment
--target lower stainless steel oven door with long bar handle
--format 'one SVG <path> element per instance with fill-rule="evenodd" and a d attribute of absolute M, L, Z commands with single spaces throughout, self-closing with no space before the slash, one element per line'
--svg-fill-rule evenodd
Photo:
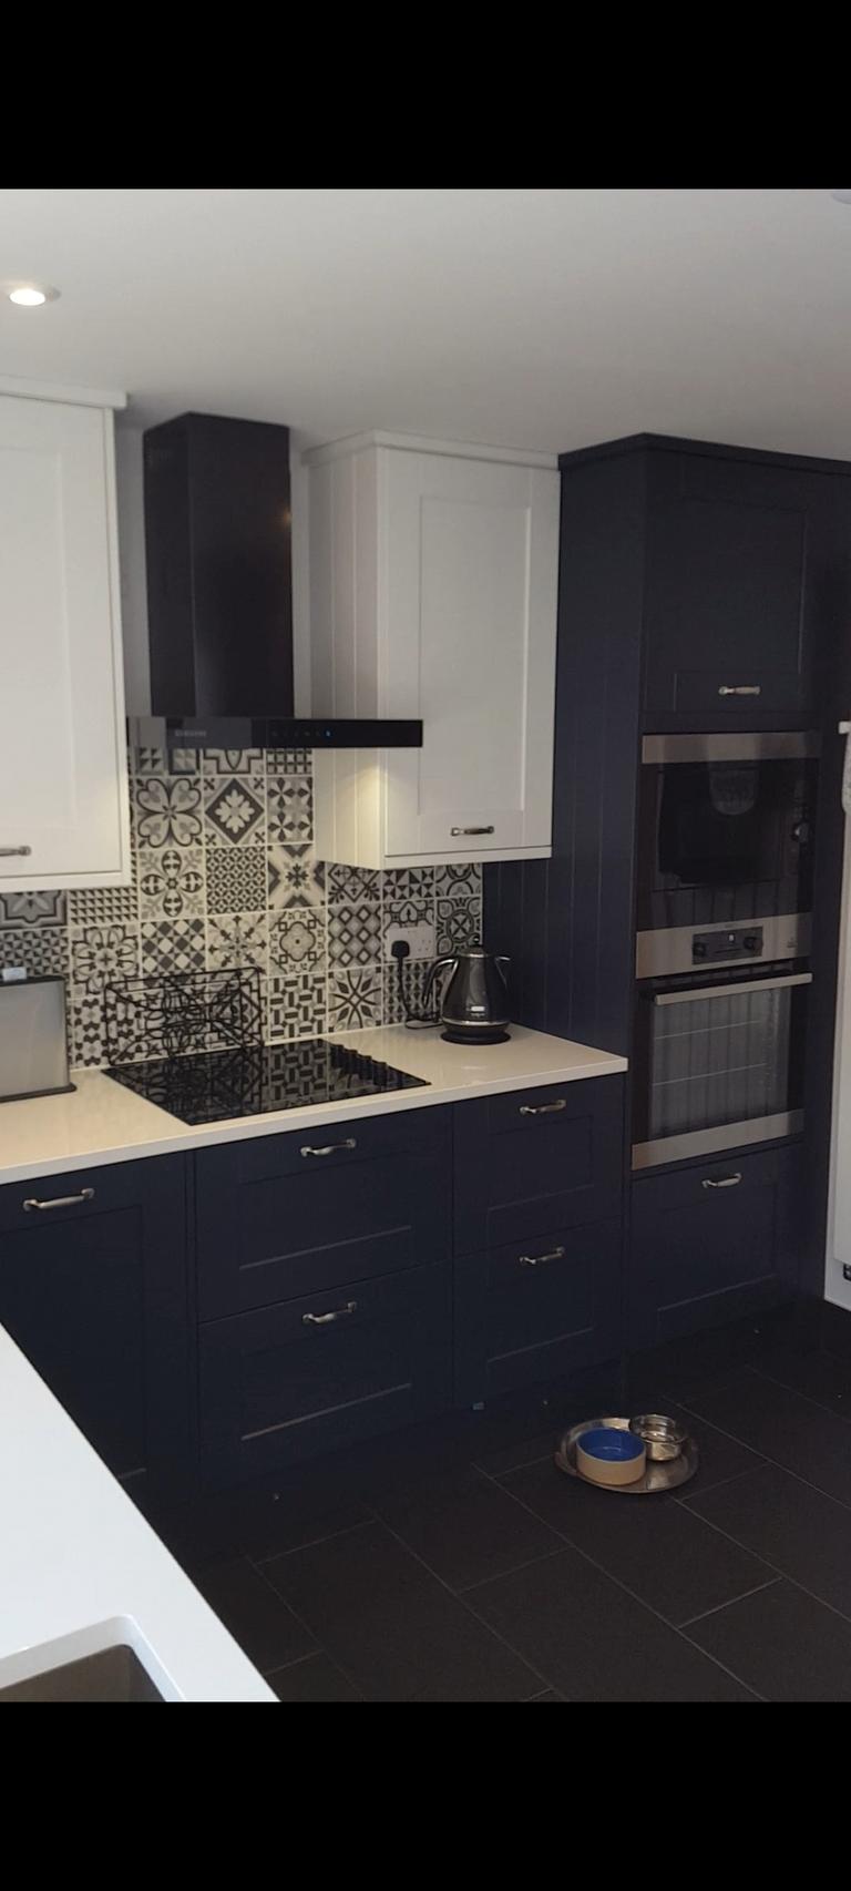
<path fill-rule="evenodd" d="M 634 1169 L 802 1129 L 811 980 L 796 970 L 637 987 Z"/>

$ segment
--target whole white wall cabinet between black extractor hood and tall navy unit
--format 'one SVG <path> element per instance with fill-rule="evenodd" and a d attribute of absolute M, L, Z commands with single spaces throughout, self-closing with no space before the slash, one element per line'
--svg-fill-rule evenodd
<path fill-rule="evenodd" d="M 556 463 L 382 433 L 306 461 L 314 713 L 424 720 L 422 749 L 316 753 L 320 855 L 547 857 Z"/>

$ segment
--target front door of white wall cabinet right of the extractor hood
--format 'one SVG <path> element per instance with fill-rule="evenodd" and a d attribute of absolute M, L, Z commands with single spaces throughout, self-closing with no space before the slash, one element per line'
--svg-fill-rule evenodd
<path fill-rule="evenodd" d="M 548 847 L 558 475 L 384 460 L 386 713 L 424 719 L 388 756 L 388 860 Z"/>

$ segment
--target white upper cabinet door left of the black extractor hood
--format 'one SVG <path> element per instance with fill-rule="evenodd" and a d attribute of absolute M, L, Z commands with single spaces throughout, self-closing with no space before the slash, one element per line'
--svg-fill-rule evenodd
<path fill-rule="evenodd" d="M 113 418 L 0 397 L 0 891 L 129 879 Z"/>

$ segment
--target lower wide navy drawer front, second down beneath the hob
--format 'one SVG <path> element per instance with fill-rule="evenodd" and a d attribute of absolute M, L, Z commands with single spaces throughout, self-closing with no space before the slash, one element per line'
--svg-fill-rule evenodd
<path fill-rule="evenodd" d="M 357 1282 L 200 1329 L 200 1460 L 208 1486 L 446 1411 L 450 1267 Z"/>

